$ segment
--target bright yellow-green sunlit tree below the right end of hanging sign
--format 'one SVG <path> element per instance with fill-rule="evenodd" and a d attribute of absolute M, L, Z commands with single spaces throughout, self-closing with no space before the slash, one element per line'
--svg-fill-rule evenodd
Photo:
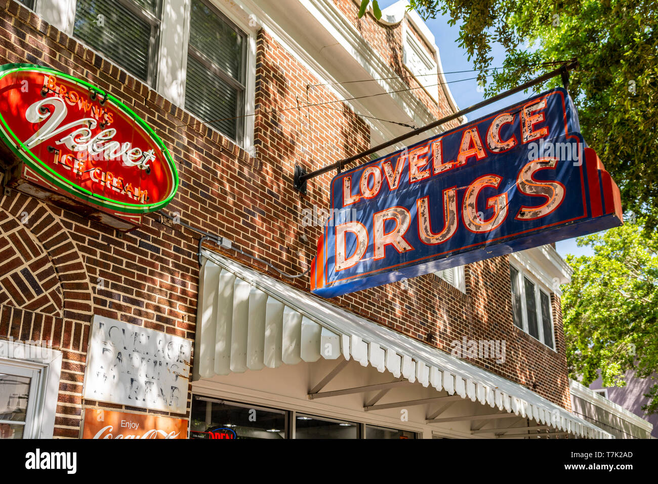
<path fill-rule="evenodd" d="M 626 223 L 577 241 L 594 255 L 567 257 L 574 269 L 562 298 L 570 377 L 590 385 L 600 371 L 606 387 L 623 386 L 629 369 L 651 377 L 658 372 L 658 234 Z M 647 396 L 644 410 L 658 413 L 658 384 Z"/>

